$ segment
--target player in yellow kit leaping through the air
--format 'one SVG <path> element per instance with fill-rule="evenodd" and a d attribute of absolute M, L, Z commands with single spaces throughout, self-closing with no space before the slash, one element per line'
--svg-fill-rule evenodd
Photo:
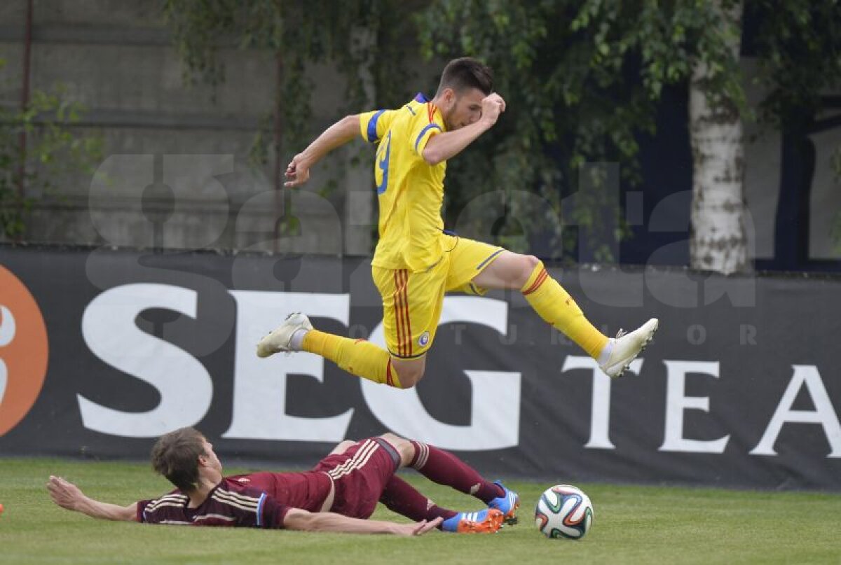
<path fill-rule="evenodd" d="M 377 144 L 374 179 L 379 240 L 371 273 L 383 301 L 385 349 L 314 329 L 295 313 L 257 346 L 257 355 L 309 351 L 347 372 L 395 388 L 415 386 L 426 371 L 444 294 L 519 291 L 532 309 L 593 357 L 611 378 L 622 376 L 657 330 L 649 319 L 616 339 L 603 335 L 550 277 L 542 261 L 447 233 L 441 217 L 447 160 L 496 124 L 505 100 L 489 67 L 470 57 L 450 61 L 436 95 L 396 109 L 348 115 L 325 129 L 286 169 L 287 187 L 309 179 L 324 156 L 357 136 Z"/>

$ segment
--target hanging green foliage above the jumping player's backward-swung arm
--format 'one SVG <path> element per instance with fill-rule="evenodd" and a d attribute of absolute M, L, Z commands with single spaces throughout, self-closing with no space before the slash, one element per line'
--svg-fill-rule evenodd
<path fill-rule="evenodd" d="M 262 125 L 251 150 L 255 161 L 265 163 L 276 110 L 286 147 L 299 148 L 312 134 L 314 82 L 309 71 L 314 63 L 336 66 L 346 81 L 347 108 L 367 107 L 372 89 L 383 98 L 396 98 L 394 85 L 405 77 L 401 40 L 406 24 L 399 4 L 347 0 L 339 8 L 333 0 L 164 0 L 163 15 L 186 64 L 188 82 L 215 86 L 225 81 L 220 50 L 268 50 L 280 58 L 277 108 L 262 108 Z"/>

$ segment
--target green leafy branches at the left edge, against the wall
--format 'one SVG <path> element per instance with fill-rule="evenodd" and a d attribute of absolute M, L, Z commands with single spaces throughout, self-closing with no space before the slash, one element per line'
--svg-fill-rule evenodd
<path fill-rule="evenodd" d="M 57 193 L 57 179 L 78 171 L 93 173 L 102 139 L 73 129 L 84 109 L 61 86 L 52 92 L 34 90 L 24 110 L 0 105 L 0 235 L 24 235 L 37 195 Z M 22 132 L 25 149 L 19 141 Z"/>

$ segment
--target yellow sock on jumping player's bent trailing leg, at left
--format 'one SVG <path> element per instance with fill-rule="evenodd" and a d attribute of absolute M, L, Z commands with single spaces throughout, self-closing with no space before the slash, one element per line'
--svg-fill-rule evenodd
<path fill-rule="evenodd" d="M 301 349 L 329 359 L 357 377 L 388 384 L 389 387 L 403 388 L 397 378 L 397 371 L 391 366 L 389 351 L 369 341 L 309 330 L 304 335 Z"/>

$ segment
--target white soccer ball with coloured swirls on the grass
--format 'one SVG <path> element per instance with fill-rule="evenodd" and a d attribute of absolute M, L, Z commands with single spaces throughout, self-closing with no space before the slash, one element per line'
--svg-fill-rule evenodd
<path fill-rule="evenodd" d="M 534 521 L 548 538 L 580 540 L 593 524 L 593 503 L 580 488 L 556 484 L 537 500 Z"/>

